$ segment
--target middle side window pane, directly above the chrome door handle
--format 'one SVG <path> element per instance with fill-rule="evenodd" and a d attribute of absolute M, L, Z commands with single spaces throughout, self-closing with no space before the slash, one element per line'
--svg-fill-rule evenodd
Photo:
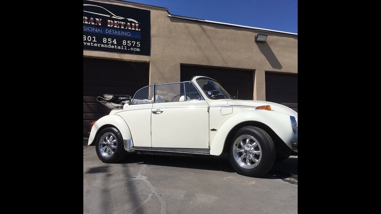
<path fill-rule="evenodd" d="M 185 101 L 184 83 L 156 86 L 156 102 Z"/>

